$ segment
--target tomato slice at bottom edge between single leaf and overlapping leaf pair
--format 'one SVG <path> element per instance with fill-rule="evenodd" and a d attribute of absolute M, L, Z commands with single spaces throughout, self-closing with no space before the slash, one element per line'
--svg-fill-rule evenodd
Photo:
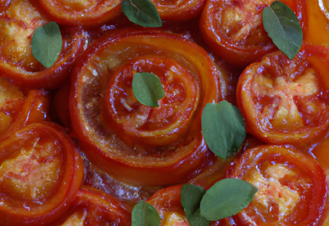
<path fill-rule="evenodd" d="M 147 200 L 159 212 L 160 226 L 189 226 L 180 202 L 181 186 L 175 185 L 161 189 Z"/>

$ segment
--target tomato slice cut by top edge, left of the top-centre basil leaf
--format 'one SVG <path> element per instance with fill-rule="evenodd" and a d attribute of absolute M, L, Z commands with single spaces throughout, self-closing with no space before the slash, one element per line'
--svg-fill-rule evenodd
<path fill-rule="evenodd" d="M 122 13 L 122 0 L 39 0 L 52 20 L 63 25 L 99 25 Z"/>

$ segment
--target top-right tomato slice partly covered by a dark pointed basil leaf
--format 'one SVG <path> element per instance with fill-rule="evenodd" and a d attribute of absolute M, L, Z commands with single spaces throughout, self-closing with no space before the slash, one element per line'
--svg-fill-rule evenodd
<path fill-rule="evenodd" d="M 263 27 L 262 12 L 273 0 L 208 0 L 199 27 L 206 43 L 221 58 L 247 66 L 276 49 Z M 297 1 L 283 1 L 295 12 Z"/>

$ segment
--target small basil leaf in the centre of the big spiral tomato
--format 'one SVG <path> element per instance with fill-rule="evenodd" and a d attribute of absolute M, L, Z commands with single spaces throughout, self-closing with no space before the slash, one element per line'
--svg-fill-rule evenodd
<path fill-rule="evenodd" d="M 132 85 L 136 99 L 146 106 L 157 107 L 158 100 L 165 97 L 165 90 L 155 74 L 135 73 Z"/>

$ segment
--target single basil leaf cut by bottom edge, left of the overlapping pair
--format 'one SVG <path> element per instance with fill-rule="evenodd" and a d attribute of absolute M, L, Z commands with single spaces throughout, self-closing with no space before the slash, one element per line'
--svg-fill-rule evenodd
<path fill-rule="evenodd" d="M 158 211 L 149 203 L 138 202 L 132 212 L 132 226 L 159 226 Z"/>

